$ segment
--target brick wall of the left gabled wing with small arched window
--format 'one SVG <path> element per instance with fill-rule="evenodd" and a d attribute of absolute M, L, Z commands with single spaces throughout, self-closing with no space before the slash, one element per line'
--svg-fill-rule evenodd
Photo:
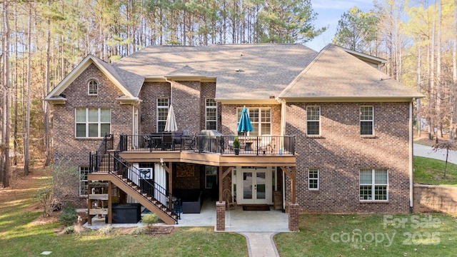
<path fill-rule="evenodd" d="M 99 84 L 97 96 L 88 96 L 88 84 L 95 79 Z M 111 133 L 114 141 L 119 141 L 119 134 L 132 133 L 132 106 L 119 105 L 114 100 L 123 94 L 104 76 L 94 64 L 91 64 L 62 93 L 66 104 L 54 106 L 52 132 L 54 134 L 54 163 L 68 162 L 72 166 L 89 166 L 89 153 L 94 153 L 101 143 L 101 138 L 75 138 L 75 109 L 79 107 L 111 109 Z M 66 183 L 62 191 L 79 196 L 79 181 Z M 75 200 L 75 199 L 73 199 Z M 86 197 L 76 199 L 76 205 L 86 206 Z"/>

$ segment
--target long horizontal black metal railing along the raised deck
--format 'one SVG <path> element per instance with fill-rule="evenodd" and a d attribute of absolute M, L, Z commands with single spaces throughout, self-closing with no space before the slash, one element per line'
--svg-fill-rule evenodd
<path fill-rule="evenodd" d="M 233 147 L 238 137 L 240 147 Z M 119 141 L 119 151 L 192 151 L 196 153 L 294 155 L 294 136 L 174 136 L 162 134 L 126 135 Z"/>

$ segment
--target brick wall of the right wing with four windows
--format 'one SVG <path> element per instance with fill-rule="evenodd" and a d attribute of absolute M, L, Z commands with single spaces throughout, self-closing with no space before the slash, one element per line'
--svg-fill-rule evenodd
<path fill-rule="evenodd" d="M 306 137 L 306 104 L 287 104 L 286 134 L 296 136 L 297 203 L 308 213 L 406 213 L 409 201 L 408 103 L 321 106 L 321 137 Z M 362 138 L 361 105 L 373 106 L 373 138 Z M 303 135 L 303 136 L 299 136 Z M 308 190 L 308 168 L 319 170 L 319 190 Z M 359 201 L 361 168 L 388 169 L 388 203 Z M 286 201 L 291 201 L 286 179 Z"/>

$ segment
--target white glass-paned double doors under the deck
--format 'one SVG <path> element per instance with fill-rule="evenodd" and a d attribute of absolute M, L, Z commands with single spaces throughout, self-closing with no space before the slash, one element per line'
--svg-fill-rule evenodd
<path fill-rule="evenodd" d="M 236 176 L 239 174 L 239 176 Z M 271 204 L 272 171 L 270 167 L 237 167 L 236 201 L 238 204 Z"/>

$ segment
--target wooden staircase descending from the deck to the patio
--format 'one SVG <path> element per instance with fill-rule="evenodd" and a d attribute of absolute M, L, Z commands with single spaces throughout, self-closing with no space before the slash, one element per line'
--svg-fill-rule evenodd
<path fill-rule="evenodd" d="M 123 165 L 126 165 L 126 163 Z M 110 156 L 110 153 L 106 153 L 104 155 L 98 170 L 89 173 L 87 179 L 89 183 L 90 181 L 110 181 L 149 211 L 156 213 L 156 215 L 165 223 L 169 225 L 178 223 L 179 216 L 171 211 L 170 208 L 154 198 L 154 196 L 144 193 L 139 185 L 131 181 L 129 178 L 126 178 L 119 171 L 114 171 L 114 158 Z M 111 208 L 111 206 L 109 206 L 109 208 Z"/>

